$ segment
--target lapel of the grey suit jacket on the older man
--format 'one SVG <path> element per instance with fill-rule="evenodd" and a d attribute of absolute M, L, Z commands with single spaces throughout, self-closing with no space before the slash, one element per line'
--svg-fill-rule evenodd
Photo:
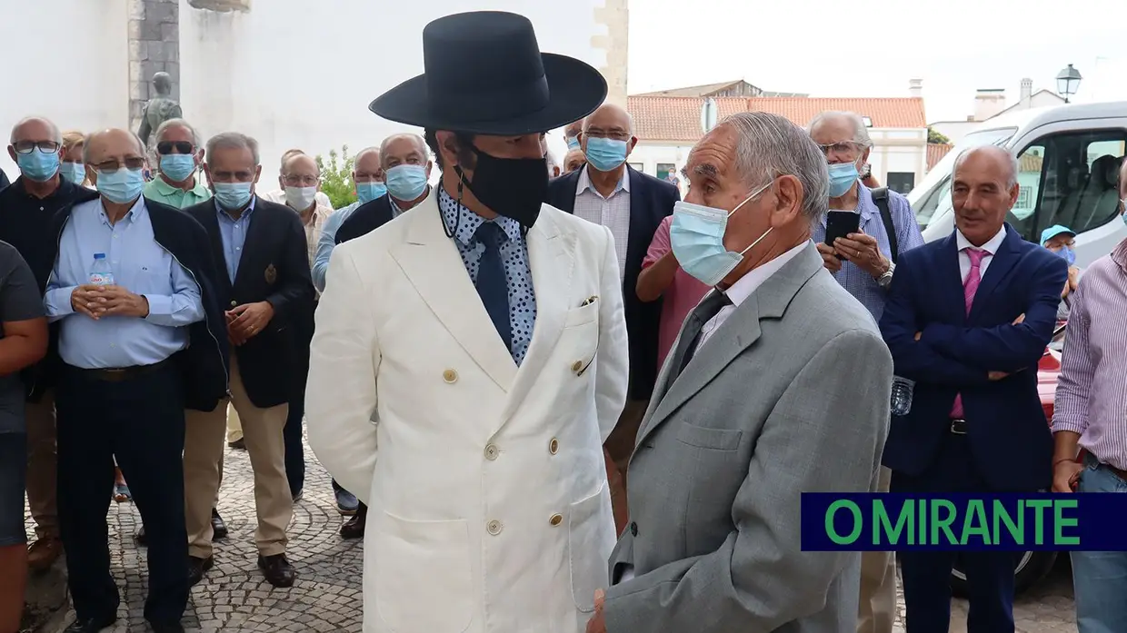
<path fill-rule="evenodd" d="M 712 378 L 733 359 L 758 340 L 762 335 L 760 321 L 782 316 L 798 291 L 822 269 L 822 256 L 811 242 L 744 300 L 735 312 L 728 315 L 722 327 L 709 337 L 704 347 L 693 355 L 685 371 L 668 385 L 662 401 L 653 408 L 651 414 L 642 425 L 638 434 L 638 444 L 641 444 L 696 392 L 712 382 Z M 682 330 L 682 336 L 684 333 Z M 668 380 L 674 363 L 680 363 L 680 358 L 666 360 L 662 371 L 663 381 Z"/>

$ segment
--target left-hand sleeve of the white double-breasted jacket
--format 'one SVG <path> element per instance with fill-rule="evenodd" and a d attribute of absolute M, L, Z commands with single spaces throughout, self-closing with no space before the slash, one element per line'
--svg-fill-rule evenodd
<path fill-rule="evenodd" d="M 340 485 L 367 502 L 376 460 L 372 419 L 380 342 L 371 294 L 347 248 L 336 249 L 329 276 L 332 285 L 321 295 L 310 347 L 305 389 L 309 445 Z"/>

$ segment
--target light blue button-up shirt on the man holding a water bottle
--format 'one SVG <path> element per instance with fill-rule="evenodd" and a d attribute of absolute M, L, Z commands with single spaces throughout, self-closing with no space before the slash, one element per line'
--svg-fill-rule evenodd
<path fill-rule="evenodd" d="M 148 316 L 94 320 L 74 312 L 71 293 L 88 283 L 97 252 L 106 253 L 118 286 L 149 301 Z M 100 198 L 74 206 L 60 238 L 44 304 L 48 320 L 61 320 L 63 362 L 85 369 L 160 363 L 188 346 L 185 326 L 204 319 L 199 287 L 157 243 L 144 197 L 116 224 L 109 223 Z"/>

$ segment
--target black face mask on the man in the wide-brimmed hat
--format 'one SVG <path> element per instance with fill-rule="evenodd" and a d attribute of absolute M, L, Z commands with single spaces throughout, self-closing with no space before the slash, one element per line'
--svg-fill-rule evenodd
<path fill-rule="evenodd" d="M 502 159 L 472 145 L 470 149 L 478 157 L 473 180 L 467 180 L 461 168 L 455 166 L 458 177 L 490 211 L 531 229 L 548 195 L 548 161 L 543 158 Z"/>

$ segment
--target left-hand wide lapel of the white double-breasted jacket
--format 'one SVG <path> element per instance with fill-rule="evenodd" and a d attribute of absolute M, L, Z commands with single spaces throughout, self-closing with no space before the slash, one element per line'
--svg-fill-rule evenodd
<path fill-rule="evenodd" d="M 496 336 L 458 247 L 446 237 L 437 199 L 428 196 L 411 209 L 407 241 L 392 248 L 390 255 L 446 331 L 507 392 L 516 377 L 516 363 Z M 533 284 L 539 284 L 535 277 Z"/>

